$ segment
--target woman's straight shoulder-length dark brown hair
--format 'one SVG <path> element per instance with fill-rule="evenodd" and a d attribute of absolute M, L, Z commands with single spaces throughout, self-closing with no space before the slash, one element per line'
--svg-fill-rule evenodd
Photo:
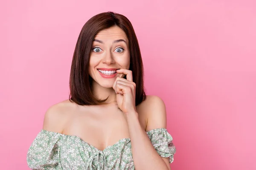
<path fill-rule="evenodd" d="M 119 26 L 128 37 L 131 57 L 129 70 L 132 71 L 133 81 L 136 83 L 136 105 L 139 105 L 146 98 L 143 85 L 143 63 L 134 29 L 128 18 L 110 11 L 90 18 L 81 29 L 76 42 L 70 71 L 69 100 L 76 102 L 78 105 L 98 105 L 108 99 L 100 100 L 93 95 L 92 78 L 89 75 L 88 68 L 93 39 L 99 31 L 111 26 Z"/>

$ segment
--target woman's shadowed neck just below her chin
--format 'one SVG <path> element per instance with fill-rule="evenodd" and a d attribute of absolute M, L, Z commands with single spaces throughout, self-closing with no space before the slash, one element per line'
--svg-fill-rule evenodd
<path fill-rule="evenodd" d="M 98 83 L 93 81 L 93 94 L 98 98 L 98 99 L 108 99 L 106 100 L 106 104 L 116 102 L 116 92 L 114 89 L 111 88 L 105 88 L 100 86 Z"/>

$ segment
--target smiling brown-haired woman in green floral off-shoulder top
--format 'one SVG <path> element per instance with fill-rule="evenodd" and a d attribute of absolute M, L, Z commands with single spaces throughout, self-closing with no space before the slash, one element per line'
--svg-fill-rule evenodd
<path fill-rule="evenodd" d="M 166 109 L 143 90 L 130 21 L 97 14 L 85 23 L 70 72 L 70 98 L 51 106 L 29 147 L 34 170 L 170 170 L 175 146 Z"/>

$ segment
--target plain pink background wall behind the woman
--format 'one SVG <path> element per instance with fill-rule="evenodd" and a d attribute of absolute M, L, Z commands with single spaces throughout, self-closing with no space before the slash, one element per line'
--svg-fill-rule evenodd
<path fill-rule="evenodd" d="M 172 170 L 256 169 L 254 0 L 0 2 L 0 169 L 29 170 L 44 113 L 68 98 L 79 32 L 93 15 L 134 26 L 147 94 L 166 103 Z"/>

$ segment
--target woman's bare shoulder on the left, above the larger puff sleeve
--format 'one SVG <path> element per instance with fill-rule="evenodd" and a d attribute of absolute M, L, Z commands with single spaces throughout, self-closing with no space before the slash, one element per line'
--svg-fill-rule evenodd
<path fill-rule="evenodd" d="M 68 99 L 50 106 L 44 115 L 44 130 L 62 133 L 73 103 Z"/>

